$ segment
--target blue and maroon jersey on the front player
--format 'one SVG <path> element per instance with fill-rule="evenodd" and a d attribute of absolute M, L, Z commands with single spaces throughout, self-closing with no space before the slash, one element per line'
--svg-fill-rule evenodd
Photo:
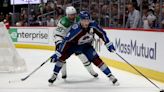
<path fill-rule="evenodd" d="M 87 29 L 82 28 L 80 23 L 77 23 L 70 27 L 68 30 L 69 33 L 64 38 L 59 49 L 57 50 L 60 53 L 66 49 L 69 49 L 72 45 L 78 46 L 91 43 L 93 40 L 93 34 L 97 34 L 105 42 L 105 44 L 109 42 L 105 31 L 95 21 L 91 21 Z"/>

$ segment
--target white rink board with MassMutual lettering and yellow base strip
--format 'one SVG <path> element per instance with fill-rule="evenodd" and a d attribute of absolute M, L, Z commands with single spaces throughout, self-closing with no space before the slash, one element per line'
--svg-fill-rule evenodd
<path fill-rule="evenodd" d="M 146 76 L 164 82 L 164 32 L 113 29 L 106 29 L 106 32 L 117 53 L 125 60 Z M 106 47 L 101 45 L 100 54 L 108 65 L 138 74 L 117 55 L 106 53 L 109 53 Z"/>

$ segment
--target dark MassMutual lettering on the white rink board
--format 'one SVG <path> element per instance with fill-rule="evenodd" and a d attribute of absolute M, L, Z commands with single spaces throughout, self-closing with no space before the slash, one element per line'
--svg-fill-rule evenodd
<path fill-rule="evenodd" d="M 115 39 L 115 48 L 123 54 L 133 55 L 146 59 L 156 60 L 157 42 L 148 45 L 138 40 L 130 40 L 128 43 L 123 42 L 120 38 Z"/>

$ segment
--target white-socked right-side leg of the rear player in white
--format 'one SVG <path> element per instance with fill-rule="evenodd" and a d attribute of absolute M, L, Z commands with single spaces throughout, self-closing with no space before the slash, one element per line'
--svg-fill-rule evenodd
<path fill-rule="evenodd" d="M 82 54 L 82 53 L 76 53 L 76 55 L 79 57 L 79 59 L 82 61 L 83 65 L 85 66 L 85 68 L 88 70 L 88 72 L 94 76 L 94 77 L 98 77 L 98 74 L 93 70 L 92 64 L 90 61 L 88 61 L 87 57 Z"/>

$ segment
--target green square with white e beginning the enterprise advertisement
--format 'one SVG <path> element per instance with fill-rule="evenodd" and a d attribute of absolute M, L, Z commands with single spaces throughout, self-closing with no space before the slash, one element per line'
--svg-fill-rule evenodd
<path fill-rule="evenodd" d="M 17 42 L 18 41 L 17 28 L 10 28 L 9 34 L 10 34 L 11 39 L 12 39 L 13 42 Z"/>

